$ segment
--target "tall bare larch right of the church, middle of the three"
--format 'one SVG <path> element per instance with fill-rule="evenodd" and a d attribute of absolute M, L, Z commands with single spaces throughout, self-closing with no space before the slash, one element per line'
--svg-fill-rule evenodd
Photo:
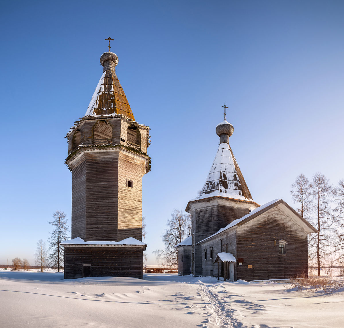
<path fill-rule="evenodd" d="M 311 237 L 311 246 L 316 255 L 316 263 L 318 268 L 318 276 L 320 276 L 320 264 L 326 255 L 329 254 L 329 247 L 332 245 L 331 228 L 332 210 L 329 205 L 333 201 L 333 187 L 330 180 L 322 173 L 315 173 L 312 178 L 312 194 L 313 194 L 313 213 L 314 225 L 318 229 L 318 233 Z"/>

